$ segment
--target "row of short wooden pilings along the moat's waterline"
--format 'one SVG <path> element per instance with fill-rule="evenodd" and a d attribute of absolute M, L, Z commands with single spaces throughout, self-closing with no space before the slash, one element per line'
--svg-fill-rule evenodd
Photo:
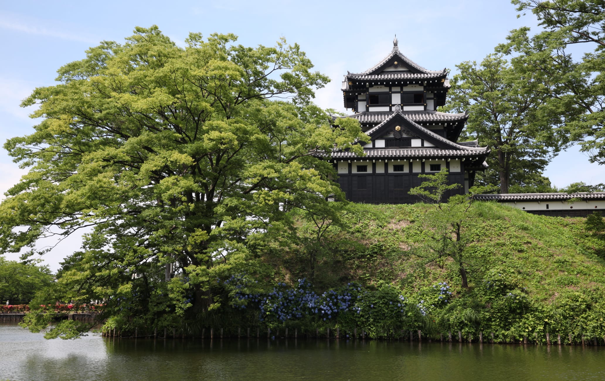
<path fill-rule="evenodd" d="M 289 337 L 293 337 L 293 338 L 298 338 L 298 328 L 294 328 L 293 331 L 293 336 L 290 336 L 289 333 L 292 333 L 292 331 L 289 332 L 288 328 L 285 328 L 284 332 L 284 336 L 280 336 L 280 330 L 276 329 L 275 331 L 272 331 L 271 328 L 267 327 L 266 328 L 266 333 L 267 333 L 267 339 L 271 339 L 271 338 L 289 338 Z M 358 336 L 358 330 L 357 328 L 354 328 L 352 332 L 348 332 L 349 334 L 352 334 L 352 337 L 347 334 L 347 332 L 344 331 L 343 335 L 341 336 L 341 332 L 340 332 L 340 328 L 336 328 L 335 330 L 332 330 L 334 336 L 330 337 L 330 328 L 326 328 L 325 330 L 325 338 L 330 339 L 330 338 L 334 338 L 334 339 L 340 339 L 340 338 L 352 338 L 352 339 L 366 339 L 366 338 L 370 338 L 369 336 L 367 336 L 367 332 L 364 329 L 361 329 L 359 331 L 359 336 Z M 166 339 L 169 337 L 169 334 L 172 334 L 172 338 L 176 339 L 178 337 L 180 337 L 181 339 L 185 339 L 186 335 L 185 334 L 177 334 L 177 330 L 176 328 L 172 328 L 172 330 L 168 330 L 168 328 L 164 328 L 163 331 L 163 336 L 160 336 L 160 338 Z M 207 335 L 208 334 L 208 335 Z M 263 332 L 264 334 L 264 332 Z M 113 330 L 103 330 L 103 336 L 104 337 L 159 337 L 158 336 L 158 332 L 157 332 L 157 328 L 155 328 L 154 333 L 153 334 L 141 334 L 139 335 L 139 328 L 135 328 L 134 330 L 134 336 L 122 336 L 122 331 L 116 331 L 116 328 L 113 328 Z M 255 337 L 255 338 L 260 338 L 261 337 L 261 330 L 260 328 L 255 328 L 255 330 L 252 330 L 252 334 L 250 333 L 250 328 L 246 329 L 246 332 L 243 333 L 241 328 L 237 329 L 237 336 L 234 335 L 224 335 L 224 331 L 223 328 L 218 328 L 217 330 L 214 330 L 214 328 L 209 328 L 208 330 L 206 330 L 206 328 L 203 328 L 201 330 L 201 339 L 223 339 L 224 337 L 247 337 L 247 338 L 251 338 L 251 337 Z M 310 332 L 307 331 L 304 335 L 301 336 L 305 336 L 307 338 L 312 337 Z M 194 337 L 194 336 L 192 336 Z M 200 337 L 200 336 L 195 336 L 195 337 Z M 315 329 L 315 336 L 313 337 L 321 337 L 319 334 L 319 328 Z M 387 336 L 388 337 L 388 336 Z M 444 334 L 439 334 L 439 341 L 443 342 L 443 341 L 447 341 L 447 342 L 453 342 L 454 341 L 454 337 L 451 333 L 451 331 L 449 331 L 447 333 L 447 337 L 445 337 Z M 574 345 L 574 344 L 580 344 L 580 342 L 574 342 L 574 340 L 572 339 L 572 335 L 571 333 L 568 335 L 569 337 L 569 342 L 567 342 L 568 345 Z M 462 332 L 458 331 L 457 334 L 457 341 L 462 343 L 466 340 L 468 340 L 469 343 L 473 342 L 474 339 L 473 337 L 462 337 Z M 393 337 L 391 336 L 391 338 L 389 340 L 401 340 L 401 339 L 409 339 L 410 342 L 411 341 L 418 341 L 418 342 L 422 342 L 422 330 L 417 330 L 416 332 L 414 331 L 409 331 L 409 335 L 407 333 L 404 333 L 404 331 L 401 331 L 401 336 L 400 337 Z M 427 340 L 428 342 L 431 342 L 433 340 L 433 338 L 431 337 L 424 337 L 425 340 Z M 491 344 L 496 344 L 497 342 L 494 340 L 494 333 L 490 333 L 489 338 L 487 340 L 483 339 L 483 332 L 479 333 L 479 337 L 477 337 L 477 340 L 475 340 L 475 342 L 479 342 L 479 343 L 491 343 Z M 603 342 L 605 344 L 605 336 L 603 336 Z M 517 340 L 511 337 L 510 340 L 506 340 L 505 342 L 498 342 L 499 344 L 507 344 L 507 343 L 511 343 L 511 344 L 530 344 L 528 337 L 524 336 L 522 340 Z M 538 336 L 537 334 L 535 334 L 534 336 L 534 344 L 540 344 L 538 342 Z M 563 339 L 561 338 L 560 334 L 557 334 L 557 338 L 556 338 L 556 342 L 551 342 L 551 336 L 549 333 L 546 333 L 546 344 L 551 345 L 551 344 L 558 344 L 558 345 L 564 345 L 566 343 L 564 343 Z M 582 345 L 599 345 L 597 342 L 597 337 L 592 337 L 592 340 L 586 339 L 586 337 L 584 337 L 584 335 L 581 336 L 581 344 Z"/>

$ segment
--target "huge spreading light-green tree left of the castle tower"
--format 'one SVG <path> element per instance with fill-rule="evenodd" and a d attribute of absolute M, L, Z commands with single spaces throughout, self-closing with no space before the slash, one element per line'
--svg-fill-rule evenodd
<path fill-rule="evenodd" d="M 181 48 L 137 27 L 23 102 L 42 121 L 5 144 L 30 169 L 0 205 L 0 250 L 92 229 L 44 302 L 104 300 L 130 327 L 199 320 L 221 307 L 217 278 L 262 273 L 263 233 L 287 210 L 325 215 L 344 198 L 321 156 L 367 137 L 310 102 L 329 79 L 296 44 L 235 39 L 191 33 Z"/>

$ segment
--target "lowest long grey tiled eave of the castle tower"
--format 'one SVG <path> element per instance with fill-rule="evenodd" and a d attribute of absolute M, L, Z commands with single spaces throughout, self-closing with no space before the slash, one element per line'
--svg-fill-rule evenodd
<path fill-rule="evenodd" d="M 439 149 L 439 148 L 374 148 L 364 149 L 365 156 L 360 157 L 355 152 L 338 151 L 332 152 L 332 158 L 390 158 L 390 157 L 413 157 L 413 158 L 448 158 L 448 157 L 479 157 L 484 152 L 471 149 Z"/>

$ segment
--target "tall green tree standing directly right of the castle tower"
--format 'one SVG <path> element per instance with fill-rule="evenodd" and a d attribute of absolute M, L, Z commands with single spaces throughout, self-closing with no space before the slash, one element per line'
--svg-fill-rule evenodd
<path fill-rule="evenodd" d="M 469 112 L 466 134 L 491 148 L 485 184 L 540 186 L 553 154 L 564 143 L 556 133 L 561 119 L 545 107 L 548 89 L 540 73 L 511 64 L 501 54 L 488 54 L 479 64 L 456 65 L 446 111 Z"/>

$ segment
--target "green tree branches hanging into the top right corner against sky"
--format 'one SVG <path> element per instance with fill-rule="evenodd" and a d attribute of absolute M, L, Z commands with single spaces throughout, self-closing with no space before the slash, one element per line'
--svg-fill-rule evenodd
<path fill-rule="evenodd" d="M 542 28 L 511 31 L 500 51 L 516 65 L 541 73 L 552 114 L 580 142 L 591 162 L 605 164 L 605 2 L 603 0 L 513 0 L 531 11 Z"/>

